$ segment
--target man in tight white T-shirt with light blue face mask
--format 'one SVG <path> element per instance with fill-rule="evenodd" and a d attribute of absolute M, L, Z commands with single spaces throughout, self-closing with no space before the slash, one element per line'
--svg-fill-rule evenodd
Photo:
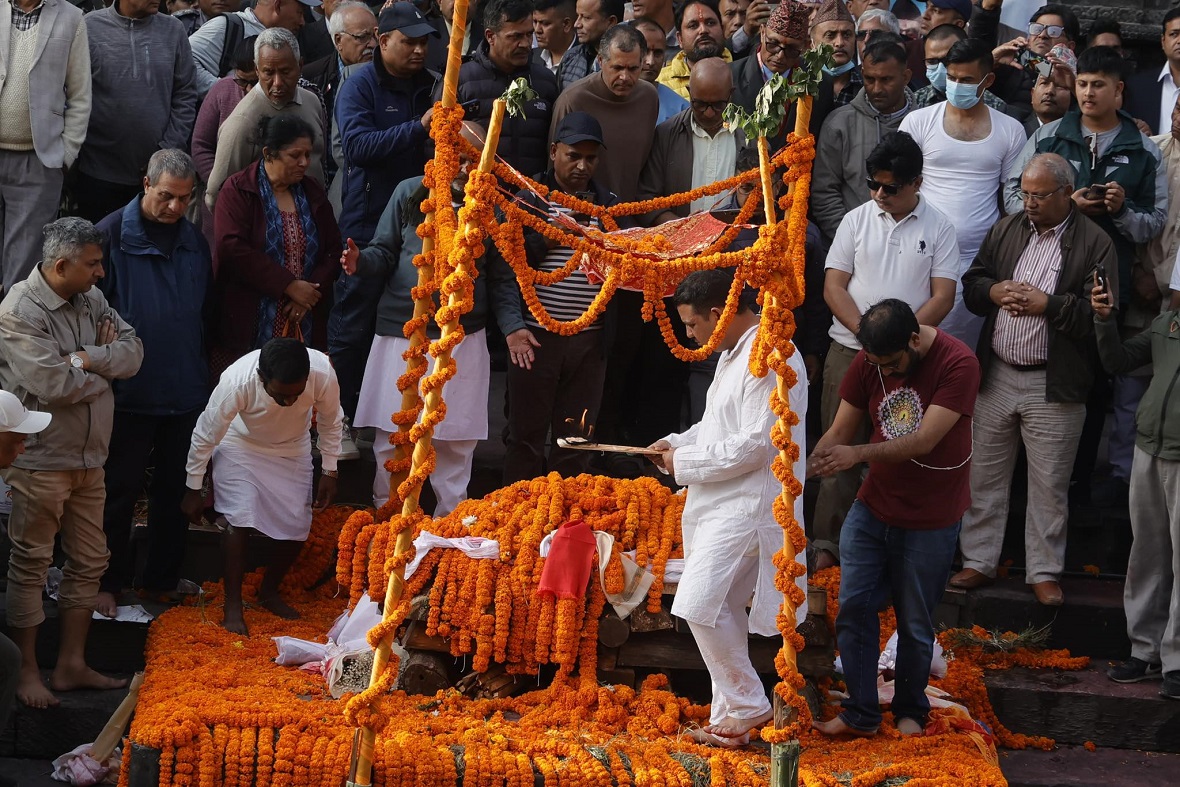
<path fill-rule="evenodd" d="M 1018 120 L 981 100 L 995 80 L 992 66 L 986 44 L 959 41 L 946 53 L 946 100 L 902 120 L 902 131 L 917 140 L 925 159 L 923 196 L 955 223 L 959 275 L 999 219 L 997 196 L 1025 140 Z M 976 346 L 983 317 L 963 306 L 962 286 L 939 327 L 968 347 Z"/>

